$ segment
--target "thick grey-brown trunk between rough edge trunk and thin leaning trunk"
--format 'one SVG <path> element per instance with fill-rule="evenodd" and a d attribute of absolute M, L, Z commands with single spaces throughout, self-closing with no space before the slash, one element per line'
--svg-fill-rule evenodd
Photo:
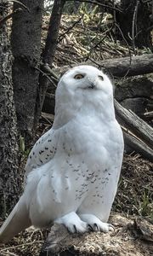
<path fill-rule="evenodd" d="M 14 101 L 18 127 L 26 141 L 33 137 L 36 127 L 35 115 L 40 108 L 38 87 L 41 55 L 41 25 L 43 0 L 21 0 L 29 9 L 22 9 L 13 16 L 12 51 Z M 14 3 L 14 10 L 20 4 Z"/>

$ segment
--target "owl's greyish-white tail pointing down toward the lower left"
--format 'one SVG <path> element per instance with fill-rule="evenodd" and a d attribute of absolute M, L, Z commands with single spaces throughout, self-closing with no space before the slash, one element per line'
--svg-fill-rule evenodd
<path fill-rule="evenodd" d="M 31 219 L 22 196 L 0 228 L 0 244 L 6 243 L 29 226 L 31 226 Z"/>

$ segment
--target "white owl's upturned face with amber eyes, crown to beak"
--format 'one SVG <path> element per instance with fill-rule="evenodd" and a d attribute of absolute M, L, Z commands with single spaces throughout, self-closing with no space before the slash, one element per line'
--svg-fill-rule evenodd
<path fill-rule="evenodd" d="M 77 90 L 85 90 L 83 93 L 86 94 L 92 93 L 92 90 L 103 90 L 105 92 L 112 88 L 111 81 L 105 73 L 91 66 L 71 68 L 60 79 L 59 87 L 75 93 L 77 93 Z M 97 91 L 97 93 L 99 92 Z"/>

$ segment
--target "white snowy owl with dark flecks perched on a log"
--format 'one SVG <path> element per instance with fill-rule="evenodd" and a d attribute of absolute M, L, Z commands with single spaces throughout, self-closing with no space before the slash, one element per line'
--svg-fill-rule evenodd
<path fill-rule="evenodd" d="M 0 229 L 0 242 L 34 225 L 64 224 L 72 233 L 108 232 L 120 176 L 123 138 L 110 79 L 73 67 L 59 80 L 52 129 L 31 150 L 26 186 Z"/>

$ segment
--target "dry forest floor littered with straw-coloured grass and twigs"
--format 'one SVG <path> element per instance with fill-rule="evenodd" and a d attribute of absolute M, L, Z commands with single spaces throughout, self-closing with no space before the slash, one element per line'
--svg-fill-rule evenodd
<path fill-rule="evenodd" d="M 149 49 L 133 50 L 123 40 L 122 42 L 116 40 L 112 34 L 111 15 L 105 15 L 104 19 L 104 22 L 100 20 L 98 14 L 83 15 L 82 19 L 80 15 L 64 15 L 54 67 L 71 66 L 88 59 L 99 61 L 133 55 L 135 50 L 138 55 L 149 53 Z M 47 31 L 48 17 L 45 17 L 42 25 L 42 47 Z M 48 122 L 41 119 L 37 137 L 49 127 Z M 144 160 L 137 152 L 124 155 L 112 212 L 129 219 L 139 216 L 153 224 L 153 163 Z M 8 244 L 0 246 L 0 256 L 38 256 L 47 233 L 47 230 L 25 230 Z"/>

